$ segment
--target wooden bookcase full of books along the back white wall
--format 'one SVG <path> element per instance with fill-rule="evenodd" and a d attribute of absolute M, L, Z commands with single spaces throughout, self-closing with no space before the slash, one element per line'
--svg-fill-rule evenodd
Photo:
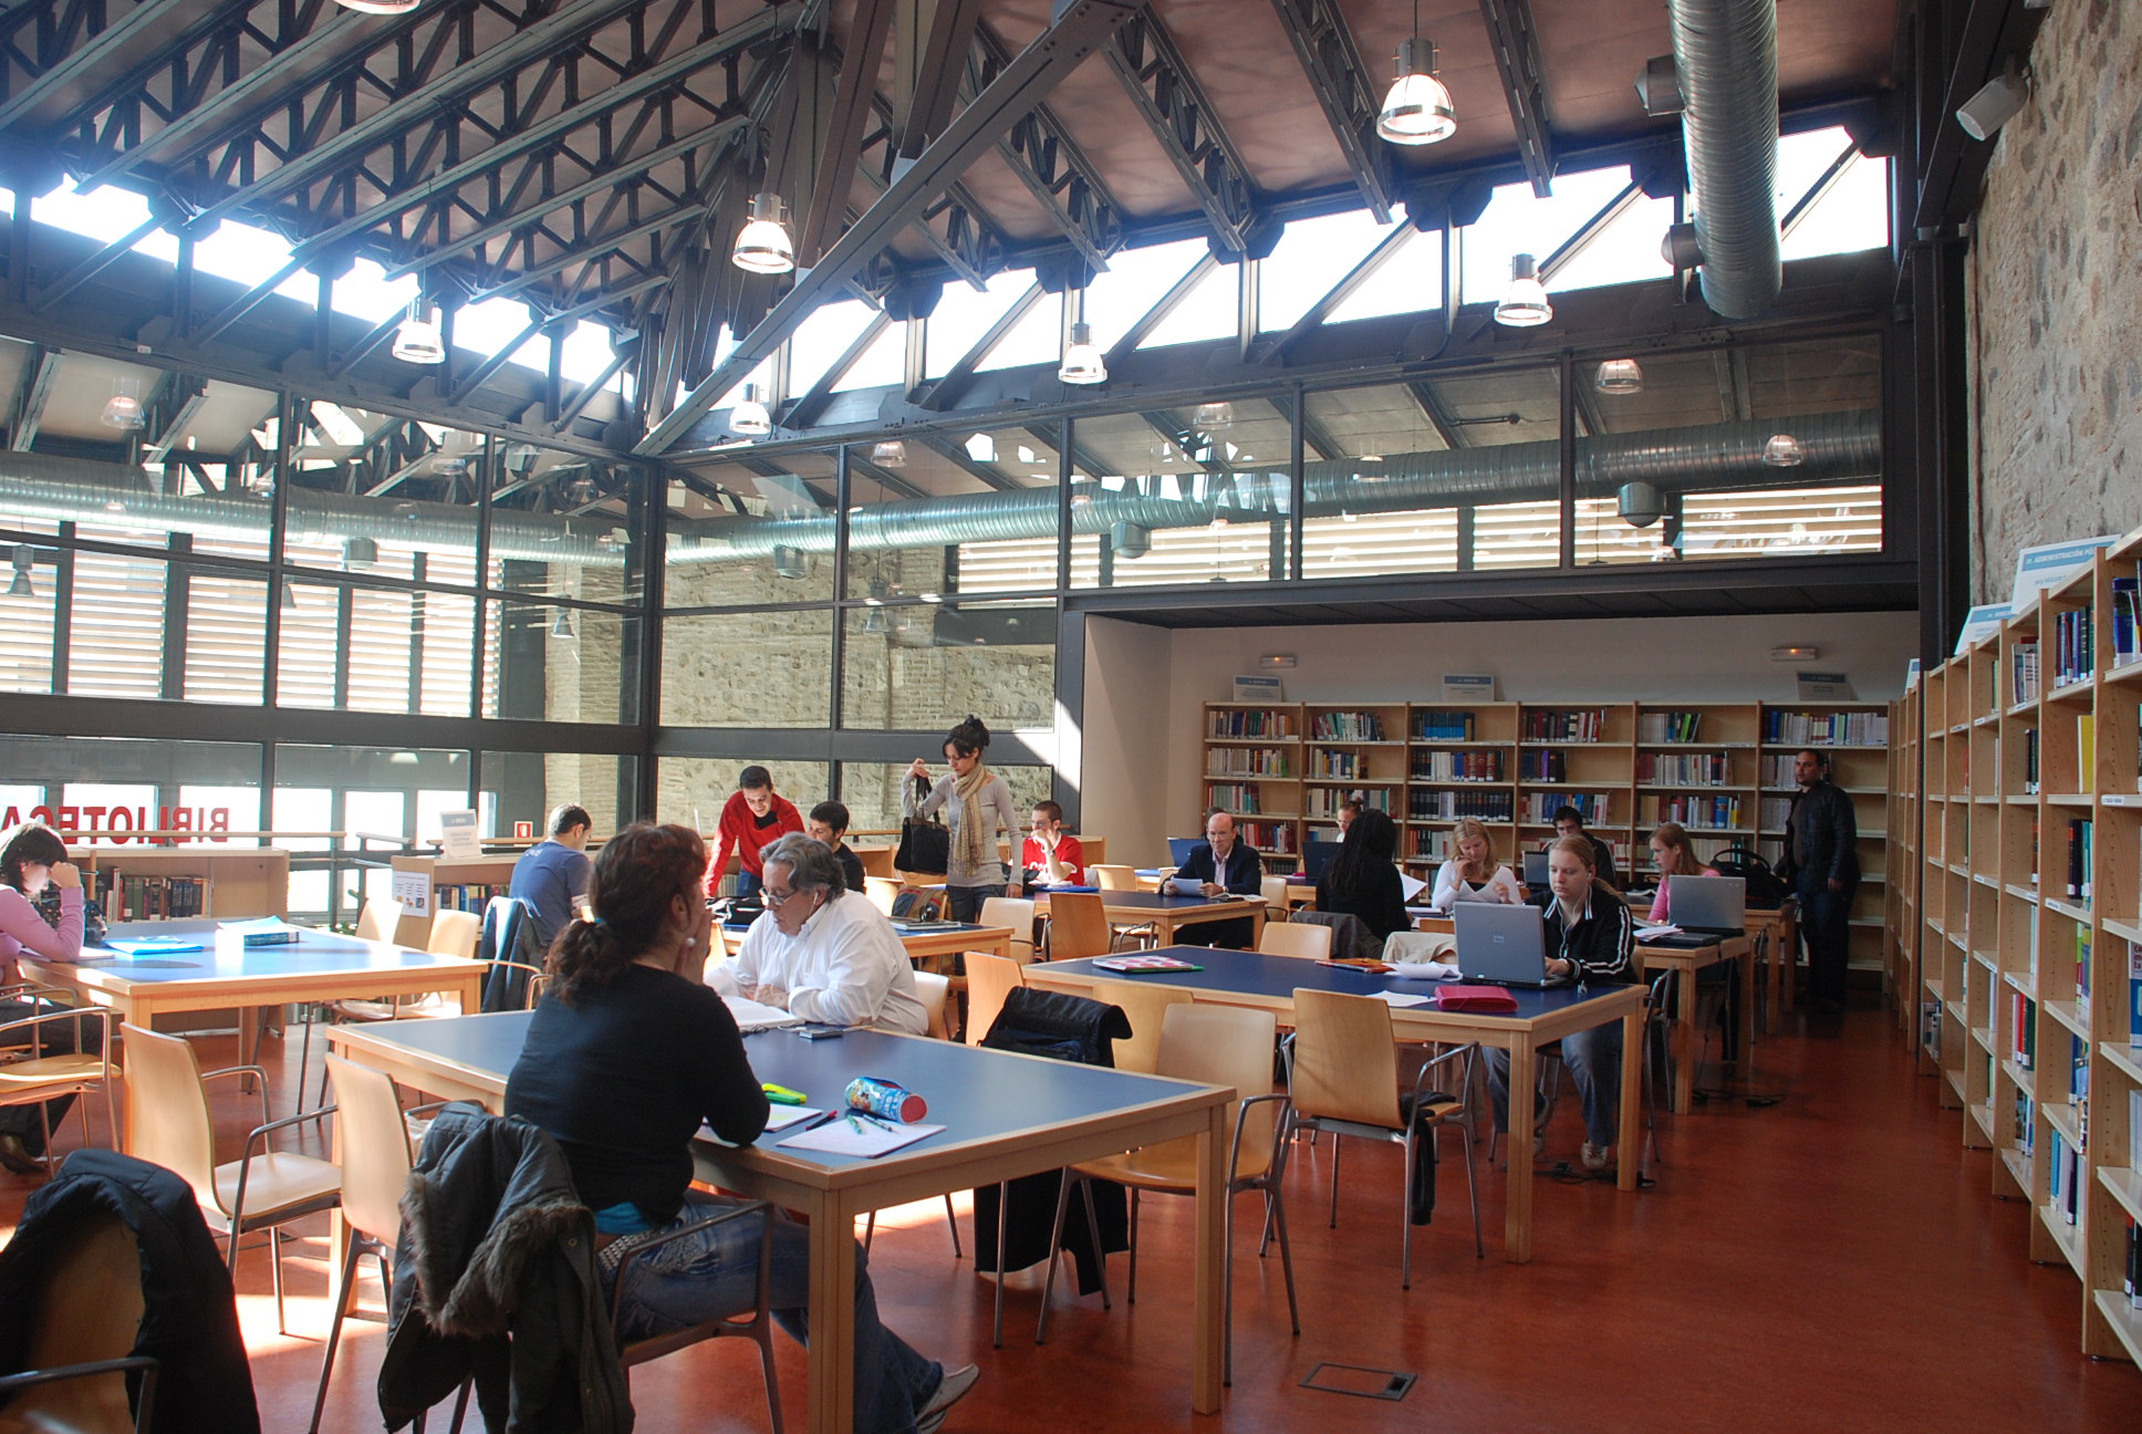
<path fill-rule="evenodd" d="M 1574 806 L 1621 872 L 1647 881 L 1645 842 L 1662 821 L 1688 827 L 1703 857 L 1741 845 L 1776 864 L 1793 752 L 1823 746 L 1859 808 L 1853 965 L 1889 973 L 1891 866 L 1874 800 L 1891 791 L 1887 733 L 1879 703 L 1206 703 L 1200 795 L 1236 812 L 1268 855 L 1334 840 L 1339 804 L 1360 797 L 1399 821 L 1414 868 L 1450 857 L 1461 817 L 1487 823 L 1510 862 L 1553 836 L 1555 808 Z"/>

